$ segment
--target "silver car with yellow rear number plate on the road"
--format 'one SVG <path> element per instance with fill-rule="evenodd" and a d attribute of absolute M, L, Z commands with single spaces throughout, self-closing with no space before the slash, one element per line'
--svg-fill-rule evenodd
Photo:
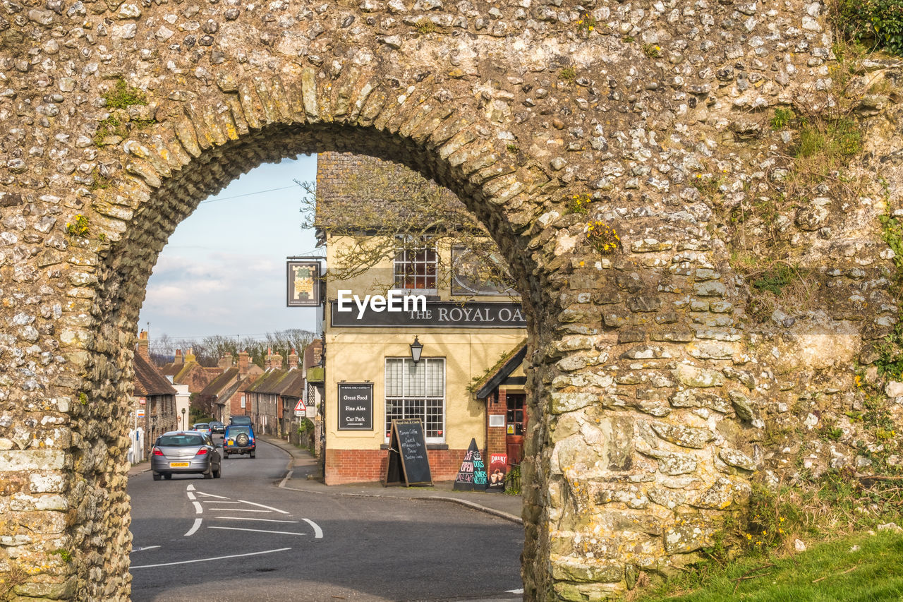
<path fill-rule="evenodd" d="M 157 437 L 151 451 L 154 481 L 171 479 L 173 474 L 200 474 L 219 478 L 222 457 L 209 435 L 197 430 L 172 430 Z"/>

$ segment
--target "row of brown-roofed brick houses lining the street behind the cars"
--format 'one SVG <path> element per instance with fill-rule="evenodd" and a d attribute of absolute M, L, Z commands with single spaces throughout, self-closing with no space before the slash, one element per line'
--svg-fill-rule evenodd
<path fill-rule="evenodd" d="M 249 416 L 257 433 L 275 437 L 297 437 L 300 420 L 307 415 L 315 417 L 321 396 L 316 394 L 316 384 L 308 383 L 297 353 L 288 356 L 288 368 L 283 368 L 283 356 L 278 353 L 268 353 L 261 368 L 250 362 L 247 352 L 237 353 L 235 358 L 226 353 L 218 366 L 203 367 L 191 350 L 185 354 L 180 350 L 172 362 L 158 369 L 148 347 L 148 334 L 142 331 L 134 362 L 132 462 L 146 459 L 162 433 L 191 428 L 192 397 L 196 407 L 211 410 L 213 419 L 228 424 L 231 416 Z M 319 341 L 309 345 L 304 363 L 314 366 L 320 362 L 321 349 Z M 296 410 L 299 400 L 310 400 L 312 410 Z"/>

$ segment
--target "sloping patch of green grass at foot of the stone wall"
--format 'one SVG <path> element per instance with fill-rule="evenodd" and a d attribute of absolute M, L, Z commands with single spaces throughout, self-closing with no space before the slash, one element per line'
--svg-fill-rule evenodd
<path fill-rule="evenodd" d="M 751 556 L 689 570 L 635 602 L 878 602 L 903 598 L 903 534 L 879 531 L 786 556 Z"/>

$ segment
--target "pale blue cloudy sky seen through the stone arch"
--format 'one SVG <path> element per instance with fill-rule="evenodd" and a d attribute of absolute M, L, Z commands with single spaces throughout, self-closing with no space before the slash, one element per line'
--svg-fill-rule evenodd
<path fill-rule="evenodd" d="M 302 190 L 316 155 L 260 165 L 234 180 L 172 233 L 147 283 L 138 320 L 150 338 L 261 337 L 316 330 L 315 310 L 285 306 L 285 258 L 319 255 L 301 227 Z"/>

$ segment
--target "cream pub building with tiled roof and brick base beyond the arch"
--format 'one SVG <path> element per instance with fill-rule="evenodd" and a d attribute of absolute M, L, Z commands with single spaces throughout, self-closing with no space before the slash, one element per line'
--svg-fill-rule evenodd
<path fill-rule="evenodd" d="M 361 174 L 394 171 L 405 172 L 404 186 L 371 185 L 366 198 L 354 189 Z M 330 277 L 360 247 L 361 236 L 376 242 L 394 236 L 380 231 L 385 226 L 353 221 L 367 221 L 374 206 L 391 212 L 392 194 L 461 203 L 412 174 L 362 155 L 318 156 L 315 223 L 326 248 L 326 484 L 384 480 L 394 419 L 423 422 L 433 481 L 455 478 L 471 439 L 487 460 L 507 456 L 507 466 L 522 453 L 526 321 L 512 289 L 480 282 L 465 268 L 473 265 L 469 249 L 449 237 L 414 249 L 390 246 L 368 268 Z M 447 277 L 443 266 L 450 267 Z M 403 296 L 411 302 L 406 307 Z"/>

